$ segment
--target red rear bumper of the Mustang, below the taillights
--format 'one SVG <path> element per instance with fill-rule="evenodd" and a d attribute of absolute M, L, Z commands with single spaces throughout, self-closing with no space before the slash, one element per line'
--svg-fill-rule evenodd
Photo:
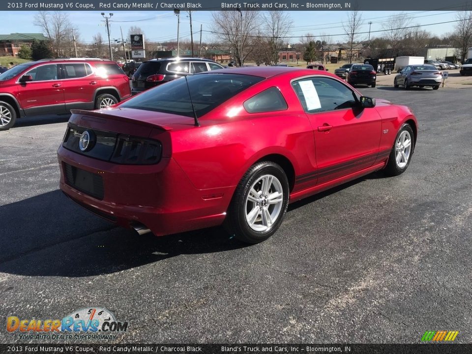
<path fill-rule="evenodd" d="M 173 158 L 163 158 L 157 165 L 116 165 L 61 146 L 58 160 L 59 186 L 71 200 L 123 227 L 143 224 L 156 236 L 220 225 L 234 191 L 233 187 L 196 189 Z M 73 185 L 65 176 L 66 165 L 100 177 L 102 197 Z"/>

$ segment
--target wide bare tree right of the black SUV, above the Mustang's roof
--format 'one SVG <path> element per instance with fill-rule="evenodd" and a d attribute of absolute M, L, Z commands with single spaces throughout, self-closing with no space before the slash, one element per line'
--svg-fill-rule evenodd
<path fill-rule="evenodd" d="M 212 31 L 221 43 L 222 50 L 231 53 L 237 65 L 241 66 L 254 50 L 253 35 L 259 32 L 258 12 L 244 11 L 241 17 L 237 11 L 215 11 L 212 16 Z"/>

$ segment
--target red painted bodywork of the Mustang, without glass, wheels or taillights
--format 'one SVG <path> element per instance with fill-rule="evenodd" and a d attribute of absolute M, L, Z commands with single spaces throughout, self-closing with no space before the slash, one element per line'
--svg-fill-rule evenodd
<path fill-rule="evenodd" d="M 244 67 L 197 75 L 218 72 L 266 79 L 199 118 L 199 127 L 193 118 L 121 108 L 121 104 L 102 111 L 73 111 L 72 124 L 159 140 L 162 159 L 155 165 L 117 165 L 61 146 L 60 188 L 80 205 L 122 226 L 139 222 L 155 235 L 173 234 L 221 224 L 238 182 L 259 160 L 283 165 L 290 202 L 295 202 L 383 168 L 405 122 L 416 134 L 410 109 L 380 99 L 374 108 L 305 113 L 292 80 L 328 76 L 346 85 L 333 74 Z M 242 102 L 271 87 L 280 89 L 287 110 L 252 114 L 244 110 Z M 325 125 L 332 129 L 324 130 Z M 64 164 L 102 176 L 103 200 L 68 185 Z"/>

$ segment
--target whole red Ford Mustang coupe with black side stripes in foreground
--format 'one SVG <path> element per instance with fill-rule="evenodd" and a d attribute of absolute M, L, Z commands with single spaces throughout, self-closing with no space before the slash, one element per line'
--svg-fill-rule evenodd
<path fill-rule="evenodd" d="M 139 234 L 223 224 L 274 234 L 287 206 L 376 170 L 410 164 L 417 122 L 325 71 L 244 67 L 193 75 L 109 109 L 73 110 L 60 188 Z"/>

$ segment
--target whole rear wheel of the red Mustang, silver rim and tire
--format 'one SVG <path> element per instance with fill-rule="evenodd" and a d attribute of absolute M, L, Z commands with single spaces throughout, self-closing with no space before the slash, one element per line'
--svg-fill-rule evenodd
<path fill-rule="evenodd" d="M 253 165 L 236 187 L 224 223 L 226 230 L 246 243 L 259 243 L 280 227 L 289 204 L 284 170 L 270 161 Z"/>

